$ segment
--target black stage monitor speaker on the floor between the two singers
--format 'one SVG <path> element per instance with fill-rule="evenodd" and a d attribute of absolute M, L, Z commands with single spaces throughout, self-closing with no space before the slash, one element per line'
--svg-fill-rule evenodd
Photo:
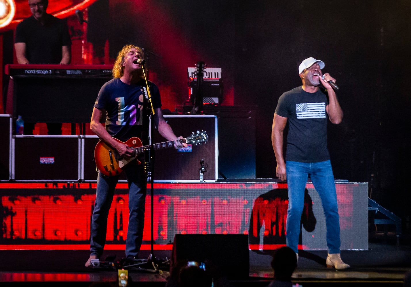
<path fill-rule="evenodd" d="M 244 234 L 176 234 L 171 268 L 181 261 L 210 261 L 229 279 L 249 276 L 248 236 Z M 207 268 L 207 266 L 206 266 Z"/>

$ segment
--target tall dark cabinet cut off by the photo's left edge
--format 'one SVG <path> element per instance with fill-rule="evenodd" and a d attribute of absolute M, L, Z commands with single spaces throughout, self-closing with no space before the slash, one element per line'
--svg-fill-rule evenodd
<path fill-rule="evenodd" d="M 12 171 L 12 116 L 0 114 L 0 180 L 9 180 Z"/>

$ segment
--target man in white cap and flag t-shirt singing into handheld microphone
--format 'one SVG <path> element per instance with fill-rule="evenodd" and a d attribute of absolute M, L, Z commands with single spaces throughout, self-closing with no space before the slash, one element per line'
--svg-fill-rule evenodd
<path fill-rule="evenodd" d="M 329 82 L 335 79 L 323 74 L 324 62 L 309 57 L 298 67 L 302 86 L 282 94 L 272 122 L 271 141 L 277 160 L 276 176 L 287 181 L 289 206 L 286 243 L 298 256 L 301 214 L 308 175 L 321 197 L 326 216 L 327 267 L 346 269 L 350 266 L 340 257 L 339 215 L 334 175 L 327 149 L 327 118 L 341 123 L 343 112 Z M 320 89 L 323 86 L 327 96 Z M 283 133 L 289 123 L 286 159 L 283 157 Z"/>

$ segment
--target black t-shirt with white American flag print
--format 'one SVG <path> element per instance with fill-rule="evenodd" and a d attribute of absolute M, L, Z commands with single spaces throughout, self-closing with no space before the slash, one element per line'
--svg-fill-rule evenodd
<path fill-rule="evenodd" d="M 330 159 L 327 149 L 327 96 L 308 93 L 297 87 L 278 99 L 275 113 L 288 118 L 286 160 L 323 162 Z"/>

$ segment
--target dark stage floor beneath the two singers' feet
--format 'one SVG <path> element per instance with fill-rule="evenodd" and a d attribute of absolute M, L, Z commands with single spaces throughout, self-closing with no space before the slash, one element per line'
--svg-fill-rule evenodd
<path fill-rule="evenodd" d="M 249 251 L 248 280 L 231 280 L 233 286 L 266 286 L 272 278 L 270 267 L 272 251 Z M 123 251 L 110 251 L 105 256 L 124 257 Z M 146 257 L 149 251 L 141 251 Z M 0 251 L 0 282 L 7 284 L 89 286 L 93 282 L 117 282 L 118 273 L 110 269 L 90 269 L 84 266 L 88 259 L 84 250 L 3 250 Z M 170 258 L 171 251 L 155 251 L 157 258 Z M 298 267 L 293 273 L 294 284 L 303 286 L 402 286 L 404 275 L 411 270 L 411 246 L 389 243 L 370 243 L 367 251 L 342 251 L 342 258 L 351 269 L 335 271 L 325 266 L 326 251 L 300 251 Z M 169 270 L 158 273 L 129 269 L 131 286 L 164 286 Z M 112 285 L 113 285 L 112 284 Z M 113 285 L 114 286 L 114 285 Z"/>

